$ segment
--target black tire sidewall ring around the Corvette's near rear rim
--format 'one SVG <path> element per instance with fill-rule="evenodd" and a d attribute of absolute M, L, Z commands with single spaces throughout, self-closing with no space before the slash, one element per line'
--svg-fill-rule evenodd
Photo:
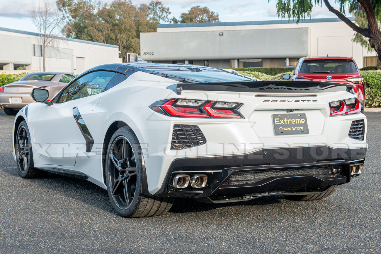
<path fill-rule="evenodd" d="M 111 195 L 110 190 L 110 180 L 109 180 L 109 151 L 111 144 L 114 142 L 114 140 L 120 136 L 123 136 L 127 138 L 127 140 L 131 144 L 131 148 L 134 152 L 135 156 L 135 162 L 136 162 L 136 190 L 134 194 L 134 198 L 128 206 L 127 209 L 122 210 L 120 209 L 114 202 L 114 198 Z M 128 217 L 131 213 L 133 213 L 136 203 L 138 202 L 139 196 L 141 195 L 141 186 L 142 186 L 142 157 L 141 157 L 141 147 L 138 141 L 138 138 L 136 137 L 135 133 L 129 128 L 129 127 L 122 127 L 118 129 L 114 135 L 112 135 L 110 143 L 107 148 L 107 156 L 106 156 L 106 185 L 107 185 L 107 194 L 109 195 L 109 199 L 111 202 L 112 207 L 114 210 L 123 217 Z"/>

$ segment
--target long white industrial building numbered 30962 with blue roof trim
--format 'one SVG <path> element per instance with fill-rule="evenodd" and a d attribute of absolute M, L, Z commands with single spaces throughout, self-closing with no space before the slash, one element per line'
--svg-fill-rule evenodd
<path fill-rule="evenodd" d="M 351 18 L 354 20 L 354 17 Z M 375 52 L 352 41 L 354 31 L 338 18 L 159 24 L 141 33 L 141 58 L 218 68 L 282 67 L 300 57 L 353 57 L 359 68 L 375 66 Z"/>

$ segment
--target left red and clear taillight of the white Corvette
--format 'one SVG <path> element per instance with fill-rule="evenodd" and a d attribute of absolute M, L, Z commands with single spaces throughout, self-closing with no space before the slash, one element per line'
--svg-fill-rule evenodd
<path fill-rule="evenodd" d="M 149 107 L 158 113 L 175 117 L 244 118 L 238 112 L 240 106 L 242 103 L 170 99 L 155 102 Z"/>

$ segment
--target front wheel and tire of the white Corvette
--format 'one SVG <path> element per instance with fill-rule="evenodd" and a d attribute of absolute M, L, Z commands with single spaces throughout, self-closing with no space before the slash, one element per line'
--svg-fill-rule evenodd
<path fill-rule="evenodd" d="M 22 121 L 17 128 L 14 148 L 17 168 L 22 178 L 40 178 L 48 175 L 48 172 L 34 168 L 30 133 L 25 121 Z"/>

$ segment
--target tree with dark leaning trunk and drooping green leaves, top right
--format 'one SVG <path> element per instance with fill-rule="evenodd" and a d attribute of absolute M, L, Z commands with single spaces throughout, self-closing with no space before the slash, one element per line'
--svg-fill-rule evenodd
<path fill-rule="evenodd" d="M 276 8 L 278 16 L 295 18 L 296 22 L 307 16 L 311 17 L 311 11 L 314 5 L 327 6 L 328 10 L 339 17 L 344 23 L 359 33 L 357 37 L 367 38 L 369 46 L 373 48 L 378 55 L 377 69 L 381 69 L 381 31 L 379 20 L 381 17 L 380 0 L 336 0 L 340 7 L 336 10 L 332 7 L 329 0 L 277 0 Z M 349 8 L 349 13 L 363 10 L 365 13 L 363 24 L 355 24 L 345 16 L 345 8 Z M 365 19 L 366 17 L 366 19 Z M 358 19 L 357 19 L 358 20 Z M 361 37 L 360 37 L 361 38 Z M 364 38 L 363 38 L 364 39 Z M 356 39 L 355 39 L 356 40 Z M 358 39 L 359 42 L 361 39 Z"/>

